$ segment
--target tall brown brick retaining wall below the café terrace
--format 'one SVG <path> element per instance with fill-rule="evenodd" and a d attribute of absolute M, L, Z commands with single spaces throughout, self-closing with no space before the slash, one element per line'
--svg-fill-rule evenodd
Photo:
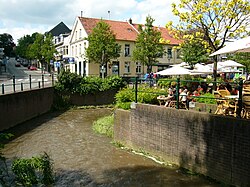
<path fill-rule="evenodd" d="M 115 111 L 115 140 L 194 172 L 250 186 L 250 121 L 137 104 Z"/>

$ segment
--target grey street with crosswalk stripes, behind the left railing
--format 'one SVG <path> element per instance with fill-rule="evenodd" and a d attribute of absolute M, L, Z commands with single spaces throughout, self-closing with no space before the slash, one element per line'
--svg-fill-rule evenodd
<path fill-rule="evenodd" d="M 16 63 L 15 58 L 8 60 L 6 69 L 9 76 L 0 82 L 0 95 L 52 86 L 52 77 L 49 73 L 42 73 L 41 70 L 31 71 L 23 66 L 15 67 Z"/>

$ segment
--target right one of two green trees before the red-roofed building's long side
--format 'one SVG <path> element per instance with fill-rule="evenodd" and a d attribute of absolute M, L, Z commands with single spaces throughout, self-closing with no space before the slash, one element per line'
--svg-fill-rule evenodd
<path fill-rule="evenodd" d="M 150 16 L 146 18 L 145 26 L 139 25 L 133 60 L 140 61 L 147 66 L 147 72 L 151 73 L 152 66 L 158 62 L 157 58 L 164 54 L 161 41 L 161 32 L 153 26 L 154 19 Z"/>

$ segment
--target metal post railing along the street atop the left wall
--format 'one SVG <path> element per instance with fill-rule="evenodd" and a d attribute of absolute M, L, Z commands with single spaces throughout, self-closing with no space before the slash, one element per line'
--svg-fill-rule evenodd
<path fill-rule="evenodd" d="M 6 81 L 7 82 L 7 81 Z M 1 94 L 16 93 L 32 89 L 40 89 L 54 86 L 54 74 L 51 75 L 29 75 L 28 77 L 12 76 L 11 83 L 1 84 Z"/>

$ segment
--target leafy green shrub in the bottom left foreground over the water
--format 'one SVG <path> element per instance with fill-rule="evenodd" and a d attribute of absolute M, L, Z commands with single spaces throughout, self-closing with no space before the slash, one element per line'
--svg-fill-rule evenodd
<path fill-rule="evenodd" d="M 12 171 L 17 182 L 23 186 L 50 185 L 54 182 L 51 159 L 46 153 L 38 157 L 14 160 Z"/>

